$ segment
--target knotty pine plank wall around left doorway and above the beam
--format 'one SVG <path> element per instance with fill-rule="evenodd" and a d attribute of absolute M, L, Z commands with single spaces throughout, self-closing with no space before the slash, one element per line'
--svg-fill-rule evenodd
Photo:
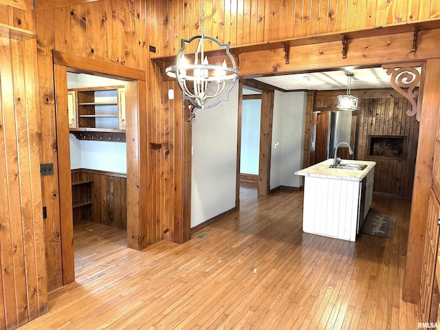
<path fill-rule="evenodd" d="M 184 129 L 185 134 L 190 136 L 190 126 L 182 124 L 185 120 L 182 119 L 184 113 L 180 109 L 181 100 L 172 102 L 166 96 L 165 91 L 171 85 L 177 90 L 175 84 L 162 82 L 164 67 L 152 64 L 150 58 L 174 55 L 182 37 L 197 34 L 199 2 L 196 1 L 194 5 L 188 0 L 75 0 L 71 5 L 70 1 L 45 1 L 45 6 L 41 7 L 45 10 L 37 12 L 14 8 L 17 1 L 1 3 L 0 23 L 38 35 L 38 61 L 33 67 L 39 73 L 36 79 L 39 92 L 33 95 L 34 91 L 26 89 L 24 96 L 31 94 L 39 104 L 40 162 L 54 164 L 54 175 L 41 178 L 42 199 L 47 206 L 45 242 L 48 288 L 54 289 L 63 284 L 52 50 L 146 70 L 146 90 L 140 93 L 148 112 L 146 124 L 155 129 L 148 131 L 147 140 L 168 141 L 170 153 L 165 155 L 165 148 L 160 151 L 140 151 L 142 155 L 148 153 L 146 166 L 150 166 L 152 171 L 148 179 L 153 180 L 149 182 L 148 193 L 142 192 L 142 200 L 151 206 L 148 214 L 142 214 L 142 219 L 146 219 L 142 225 L 149 226 L 146 238 L 148 243 L 160 239 L 186 241 L 188 234 L 179 228 L 181 221 L 186 221 L 186 218 L 179 215 L 188 214 L 190 210 L 188 194 L 184 194 L 188 192 L 188 186 L 185 186 L 182 177 L 188 162 L 181 157 L 181 153 L 190 155 L 185 144 L 187 142 L 182 142 Z M 434 1 L 423 0 L 411 1 L 410 5 L 404 0 L 377 5 L 367 5 L 364 1 L 354 5 L 343 1 L 336 5 L 331 1 L 327 5 L 325 1 L 307 0 L 300 1 L 301 6 L 294 7 L 294 3 L 298 1 L 206 2 L 206 34 L 230 42 L 232 46 L 247 45 L 375 25 L 424 21 L 439 15 Z M 148 45 L 156 47 L 155 54 L 148 52 Z M 417 56 L 426 54 L 423 52 L 426 52 L 426 48 L 419 50 Z M 283 58 L 283 54 L 279 58 Z M 163 115 L 166 104 L 169 110 Z M 175 141 L 179 141 L 179 146 L 174 145 Z M 38 265 L 41 267 L 43 261 Z M 13 306 L 11 301 L 5 302 L 5 309 L 15 308 Z"/>

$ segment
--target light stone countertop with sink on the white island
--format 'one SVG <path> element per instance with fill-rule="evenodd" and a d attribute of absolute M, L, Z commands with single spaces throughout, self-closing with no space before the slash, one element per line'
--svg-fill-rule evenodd
<path fill-rule="evenodd" d="M 376 162 L 369 162 L 366 160 L 351 160 L 341 159 L 343 164 L 360 164 L 367 165 L 364 170 L 344 170 L 342 168 L 329 168 L 333 164 L 333 159 L 327 159 L 324 162 L 309 166 L 303 170 L 295 172 L 296 175 L 303 175 L 305 177 L 325 177 L 331 179 L 349 180 L 349 181 L 362 181 L 370 170 L 374 170 Z"/>

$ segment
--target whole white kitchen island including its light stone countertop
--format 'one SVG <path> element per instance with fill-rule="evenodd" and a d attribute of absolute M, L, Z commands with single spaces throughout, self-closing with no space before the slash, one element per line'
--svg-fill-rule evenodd
<path fill-rule="evenodd" d="M 330 168 L 333 159 L 296 175 L 305 177 L 303 231 L 355 241 L 371 206 L 375 162 L 342 160 L 345 168 Z M 365 165 L 363 170 L 347 169 Z"/>

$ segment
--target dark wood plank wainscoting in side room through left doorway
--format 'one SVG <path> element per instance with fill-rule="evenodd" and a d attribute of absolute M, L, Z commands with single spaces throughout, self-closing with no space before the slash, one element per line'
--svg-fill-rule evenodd
<path fill-rule="evenodd" d="M 87 168 L 72 170 L 72 182 L 81 180 L 92 181 L 91 214 L 86 220 L 126 230 L 126 175 Z M 80 218 L 74 214 L 76 220 Z"/>

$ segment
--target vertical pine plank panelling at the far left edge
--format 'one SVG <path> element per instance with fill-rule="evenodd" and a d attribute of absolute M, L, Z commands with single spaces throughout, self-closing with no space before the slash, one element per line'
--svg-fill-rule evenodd
<path fill-rule="evenodd" d="M 35 26 L 3 5 L 0 23 Z M 0 329 L 13 329 L 47 312 L 35 39 L 0 37 L 0 58 Z"/>

